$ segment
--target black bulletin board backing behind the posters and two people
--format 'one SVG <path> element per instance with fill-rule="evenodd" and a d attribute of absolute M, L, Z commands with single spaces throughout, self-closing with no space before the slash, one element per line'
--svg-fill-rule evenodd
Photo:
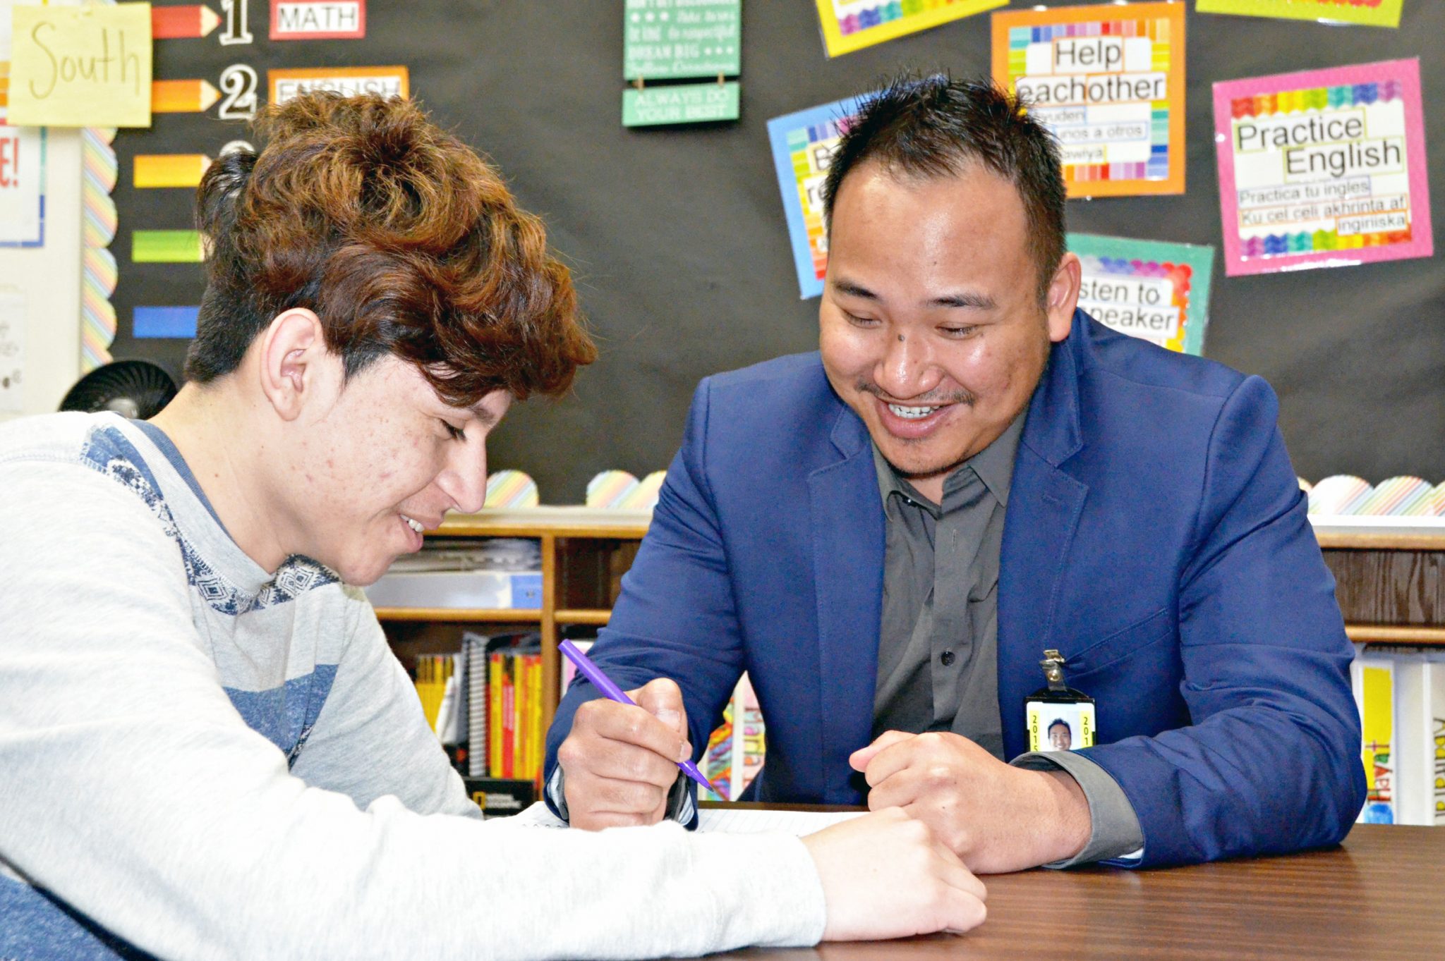
<path fill-rule="evenodd" d="M 741 121 L 624 130 L 621 0 L 371 0 L 364 40 L 272 42 L 267 14 L 264 0 L 250 0 L 249 46 L 221 46 L 220 30 L 158 40 L 156 76 L 215 84 L 241 62 L 264 94 L 269 66 L 405 63 L 413 97 L 488 153 L 546 218 L 601 359 L 575 395 L 517 407 L 493 437 L 491 468 L 530 473 L 545 504 L 581 502 L 603 469 L 666 468 L 707 374 L 815 348 L 816 300 L 798 299 L 767 120 L 864 92 L 899 68 L 984 74 L 990 59 L 987 14 L 829 61 L 812 0 L 746 0 Z M 1205 355 L 1274 385 L 1299 475 L 1445 480 L 1442 254 L 1224 277 L 1209 89 L 1217 79 L 1419 56 L 1432 199 L 1445 218 L 1445 3 L 1405 0 L 1399 30 L 1195 14 L 1189 3 L 1186 32 L 1186 192 L 1071 201 L 1069 229 L 1215 245 Z M 150 131 L 116 139 L 113 354 L 173 374 L 186 343 L 133 339 L 131 307 L 198 303 L 201 271 L 131 264 L 130 231 L 189 227 L 191 193 L 134 190 L 131 157 L 215 156 L 247 136 L 214 115 L 158 114 Z"/>

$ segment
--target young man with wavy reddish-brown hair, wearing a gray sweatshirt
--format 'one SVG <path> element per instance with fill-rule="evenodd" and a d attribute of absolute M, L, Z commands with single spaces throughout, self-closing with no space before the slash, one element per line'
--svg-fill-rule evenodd
<path fill-rule="evenodd" d="M 312 95 L 260 126 L 201 183 L 175 401 L 0 427 L 0 958 L 639 958 L 977 925 L 983 886 L 900 811 L 801 841 L 481 822 L 354 586 L 478 509 L 487 433 L 595 351 L 540 222 L 415 104 Z"/>

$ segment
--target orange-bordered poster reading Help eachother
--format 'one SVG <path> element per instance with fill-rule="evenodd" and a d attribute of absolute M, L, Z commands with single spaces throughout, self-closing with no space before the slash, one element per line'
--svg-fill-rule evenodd
<path fill-rule="evenodd" d="M 1059 139 L 1069 196 L 1183 193 L 1183 4 L 993 14 L 993 75 Z"/>

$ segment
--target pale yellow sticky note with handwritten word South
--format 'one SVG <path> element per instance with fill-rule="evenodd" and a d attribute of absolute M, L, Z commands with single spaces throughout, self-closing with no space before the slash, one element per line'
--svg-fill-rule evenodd
<path fill-rule="evenodd" d="M 12 7 L 19 127 L 149 127 L 150 4 Z"/>

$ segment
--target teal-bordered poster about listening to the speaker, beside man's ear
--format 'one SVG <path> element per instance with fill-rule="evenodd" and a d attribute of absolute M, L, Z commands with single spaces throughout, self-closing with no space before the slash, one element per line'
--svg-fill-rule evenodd
<path fill-rule="evenodd" d="M 1079 307 L 1104 326 L 1199 355 L 1209 323 L 1214 248 L 1069 234 L 1084 267 Z"/>

